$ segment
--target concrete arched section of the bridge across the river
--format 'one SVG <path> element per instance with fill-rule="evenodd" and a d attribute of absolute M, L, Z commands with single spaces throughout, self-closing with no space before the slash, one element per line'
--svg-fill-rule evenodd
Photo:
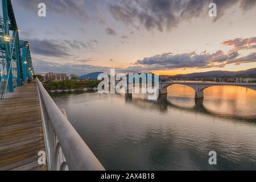
<path fill-rule="evenodd" d="M 167 94 L 167 88 L 171 85 L 186 85 L 195 90 L 195 98 L 204 98 L 204 89 L 210 86 L 218 85 L 232 85 L 242 86 L 245 88 L 256 90 L 256 84 L 243 83 L 243 82 L 205 82 L 205 81 L 171 81 L 171 82 L 159 82 L 159 94 Z"/>

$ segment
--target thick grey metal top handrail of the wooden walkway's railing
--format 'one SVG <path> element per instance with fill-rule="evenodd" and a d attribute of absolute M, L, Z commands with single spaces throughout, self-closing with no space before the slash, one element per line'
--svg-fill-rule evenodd
<path fill-rule="evenodd" d="M 85 144 L 84 140 L 82 140 L 59 107 L 57 107 L 38 78 L 37 83 L 40 102 L 43 102 L 45 106 L 47 118 L 53 127 L 57 140 L 59 140 L 59 145 L 63 151 L 65 160 L 67 161 L 68 169 L 72 171 L 104 171 L 104 167 L 98 161 L 96 156 L 94 156 L 93 152 Z M 41 109 L 44 108 L 41 107 Z M 51 137 L 50 135 L 51 134 L 48 134 L 48 137 Z M 51 143 L 49 144 L 49 147 L 52 147 Z M 51 166 L 54 166 L 54 164 L 51 164 Z M 56 169 L 56 167 L 51 168 Z"/>

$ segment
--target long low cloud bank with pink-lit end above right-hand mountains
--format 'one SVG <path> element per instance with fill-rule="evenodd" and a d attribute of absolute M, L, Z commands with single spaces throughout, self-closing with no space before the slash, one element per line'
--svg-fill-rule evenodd
<path fill-rule="evenodd" d="M 238 51 L 242 49 L 252 48 L 251 44 L 255 43 L 255 38 L 234 39 L 224 42 L 224 45 L 234 46 L 235 48 L 225 54 L 218 50 L 214 53 L 207 51 L 197 54 L 196 52 L 181 53 L 174 55 L 173 53 L 163 53 L 145 57 L 143 60 L 138 60 L 134 66 L 121 69 L 121 72 L 148 72 L 154 70 L 166 69 L 185 69 L 185 68 L 223 68 L 227 64 L 243 64 L 256 62 L 256 52 L 250 53 L 247 56 L 239 57 Z M 253 45 L 255 46 L 255 45 Z"/>

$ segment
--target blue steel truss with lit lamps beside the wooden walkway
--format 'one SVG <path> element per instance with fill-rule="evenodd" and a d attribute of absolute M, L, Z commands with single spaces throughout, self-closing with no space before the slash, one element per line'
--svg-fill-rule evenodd
<path fill-rule="evenodd" d="M 34 75 L 28 42 L 19 40 L 19 29 L 11 0 L 2 0 L 0 15 L 0 91 L 14 92 L 14 82 L 22 86 Z"/>

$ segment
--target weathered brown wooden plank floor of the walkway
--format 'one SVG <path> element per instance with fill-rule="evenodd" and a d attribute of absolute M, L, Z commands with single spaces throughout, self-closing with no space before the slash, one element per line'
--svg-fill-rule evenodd
<path fill-rule="evenodd" d="M 47 170 L 39 151 L 46 148 L 38 90 L 26 84 L 0 100 L 0 170 Z"/>

